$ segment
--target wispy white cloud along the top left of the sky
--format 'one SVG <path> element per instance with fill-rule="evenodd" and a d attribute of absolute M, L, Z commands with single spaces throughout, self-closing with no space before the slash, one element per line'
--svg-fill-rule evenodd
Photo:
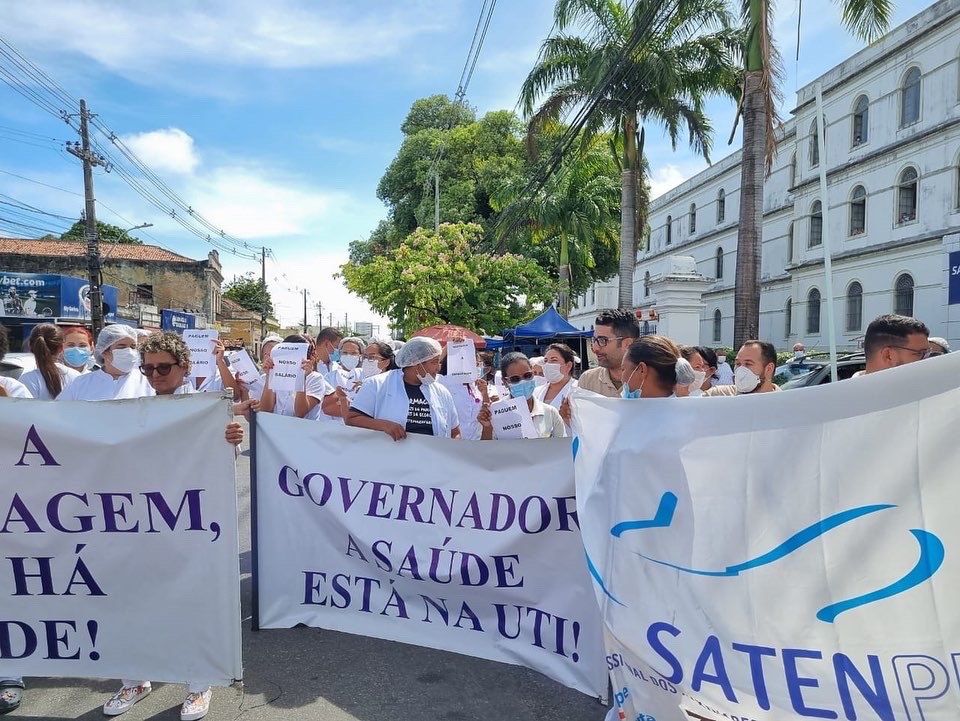
<path fill-rule="evenodd" d="M 125 76 L 176 68 L 189 79 L 197 63 L 310 68 L 376 62 L 443 30 L 456 10 L 425 0 L 372 5 L 362 12 L 359 3 L 306 0 L 47 0 L 44 21 L 37 22 L 35 6 L 6 3 L 4 34 L 36 50 L 90 57 Z"/>

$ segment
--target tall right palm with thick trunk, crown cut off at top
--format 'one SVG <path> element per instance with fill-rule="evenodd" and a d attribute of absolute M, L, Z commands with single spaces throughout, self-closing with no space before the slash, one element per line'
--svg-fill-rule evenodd
<path fill-rule="evenodd" d="M 734 290 L 733 345 L 760 334 L 760 250 L 763 231 L 763 181 L 776 152 L 776 107 L 780 99 L 780 57 L 774 45 L 772 0 L 742 0 L 747 29 L 744 74 L 738 116 L 743 117 L 740 166 L 740 225 Z M 891 0 L 841 0 L 843 23 L 864 40 L 873 40 L 890 24 Z"/>

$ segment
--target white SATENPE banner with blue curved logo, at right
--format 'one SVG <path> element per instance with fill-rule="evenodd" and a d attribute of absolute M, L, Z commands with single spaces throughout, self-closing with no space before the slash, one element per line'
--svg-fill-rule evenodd
<path fill-rule="evenodd" d="M 958 379 L 575 398 L 621 719 L 956 721 Z"/>

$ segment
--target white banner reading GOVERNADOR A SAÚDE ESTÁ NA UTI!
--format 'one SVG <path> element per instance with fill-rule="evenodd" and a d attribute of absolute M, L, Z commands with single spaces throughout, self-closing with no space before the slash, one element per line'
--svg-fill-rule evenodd
<path fill-rule="evenodd" d="M 409 436 L 257 414 L 260 626 L 536 669 L 606 695 L 570 441 Z"/>

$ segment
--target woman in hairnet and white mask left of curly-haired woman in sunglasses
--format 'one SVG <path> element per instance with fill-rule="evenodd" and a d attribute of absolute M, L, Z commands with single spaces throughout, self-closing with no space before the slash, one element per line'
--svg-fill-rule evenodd
<path fill-rule="evenodd" d="M 57 400 L 112 401 L 155 395 L 147 379 L 137 371 L 137 340 L 129 326 L 114 323 L 104 327 L 93 349 L 100 369 L 82 374 L 63 389 Z"/>

